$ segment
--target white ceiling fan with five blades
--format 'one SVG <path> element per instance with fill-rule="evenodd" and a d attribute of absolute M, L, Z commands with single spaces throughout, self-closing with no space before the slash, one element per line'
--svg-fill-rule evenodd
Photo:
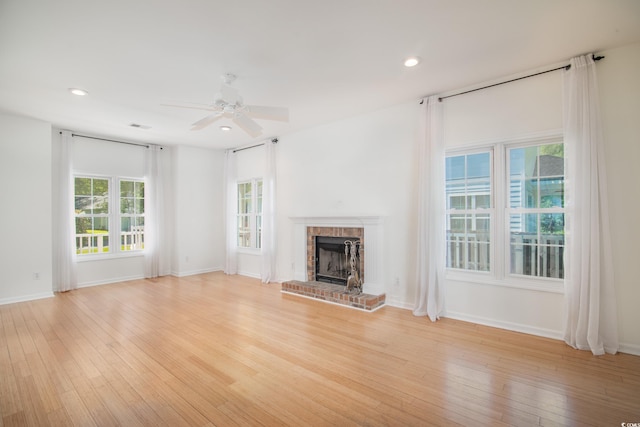
<path fill-rule="evenodd" d="M 289 109 L 284 107 L 265 107 L 260 105 L 245 105 L 242 98 L 238 95 L 237 89 L 231 87 L 236 79 L 234 74 L 224 74 L 222 78 L 222 87 L 220 93 L 216 96 L 212 104 L 196 104 L 181 103 L 163 104 L 169 107 L 190 108 L 195 110 L 212 111 L 210 114 L 191 125 L 191 130 L 200 130 L 214 123 L 223 117 L 230 118 L 242 130 L 249 135 L 256 137 L 262 132 L 260 126 L 255 120 L 278 120 L 289 121 Z"/>

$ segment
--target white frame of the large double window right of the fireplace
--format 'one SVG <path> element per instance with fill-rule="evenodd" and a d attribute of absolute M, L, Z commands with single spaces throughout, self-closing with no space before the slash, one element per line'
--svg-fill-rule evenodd
<path fill-rule="evenodd" d="M 521 288 L 552 293 L 564 293 L 564 279 L 548 278 L 538 276 L 526 276 L 512 274 L 510 272 L 510 223 L 509 218 L 509 162 L 508 150 L 513 148 L 523 148 L 531 146 L 564 144 L 561 132 L 551 132 L 540 136 L 528 136 L 509 140 L 500 140 L 472 144 L 460 147 L 453 147 L 445 151 L 445 158 L 463 154 L 474 154 L 483 151 L 492 151 L 491 169 L 491 230 L 490 230 L 490 271 L 474 271 L 452 269 L 445 266 L 445 277 L 449 281 L 478 283 L 484 285 L 505 286 L 509 288 Z M 566 153 L 566 144 L 565 144 Z M 564 168 L 565 197 L 567 177 L 566 155 Z M 446 179 L 445 179 L 446 183 Z M 500 184 L 497 184 L 500 183 Z M 445 184 L 446 185 L 446 184 Z M 448 213 L 445 190 L 445 216 Z M 566 199 L 565 199 L 566 200 Z M 566 201 L 565 201 L 566 203 Z M 546 209 L 542 209 L 547 213 Z M 566 206 L 563 207 L 565 214 L 565 234 L 566 234 Z M 445 224 L 446 218 L 445 218 Z M 566 240 L 564 242 L 566 249 Z M 444 249 L 446 250 L 446 248 Z"/>

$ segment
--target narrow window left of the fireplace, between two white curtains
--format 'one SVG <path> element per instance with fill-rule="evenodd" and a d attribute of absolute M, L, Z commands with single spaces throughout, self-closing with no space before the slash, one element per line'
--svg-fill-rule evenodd
<path fill-rule="evenodd" d="M 238 247 L 262 247 L 262 180 L 238 183 Z"/>

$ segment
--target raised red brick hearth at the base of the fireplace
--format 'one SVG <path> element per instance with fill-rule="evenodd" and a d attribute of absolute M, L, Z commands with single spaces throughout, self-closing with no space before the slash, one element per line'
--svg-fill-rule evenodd
<path fill-rule="evenodd" d="M 386 294 L 350 295 L 345 293 L 345 289 L 344 286 L 324 282 L 290 280 L 282 283 L 282 292 L 315 298 L 365 311 L 373 311 L 382 307 L 386 300 Z"/>

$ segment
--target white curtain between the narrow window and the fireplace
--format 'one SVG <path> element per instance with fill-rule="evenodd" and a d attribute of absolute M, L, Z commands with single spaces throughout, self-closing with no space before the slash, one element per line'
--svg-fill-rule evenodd
<path fill-rule="evenodd" d="M 265 142 L 265 172 L 262 177 L 262 283 L 276 275 L 276 144 Z"/>

